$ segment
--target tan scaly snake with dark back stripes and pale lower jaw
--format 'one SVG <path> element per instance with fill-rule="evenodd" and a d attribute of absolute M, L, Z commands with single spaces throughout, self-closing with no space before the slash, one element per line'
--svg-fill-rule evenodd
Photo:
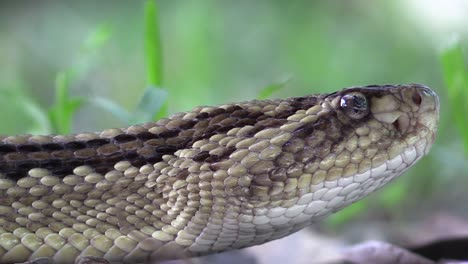
<path fill-rule="evenodd" d="M 438 119 L 425 85 L 369 85 L 1 136 L 0 263 L 150 263 L 279 239 L 408 170 Z"/>

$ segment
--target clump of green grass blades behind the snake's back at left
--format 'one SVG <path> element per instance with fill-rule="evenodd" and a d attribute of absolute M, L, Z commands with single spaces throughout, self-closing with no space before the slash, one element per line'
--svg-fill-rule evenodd
<path fill-rule="evenodd" d="M 150 121 L 167 115 L 167 92 L 158 88 L 162 83 L 161 45 L 158 29 L 156 2 L 148 0 L 145 6 L 146 18 L 146 59 L 148 88 L 144 91 L 134 111 L 130 112 L 114 102 L 104 98 L 78 98 L 70 95 L 70 86 L 90 71 L 100 51 L 110 39 L 109 26 L 101 25 L 83 41 L 76 62 L 62 70 L 55 77 L 54 103 L 48 109 L 41 107 L 19 90 L 1 90 L 3 98 L 11 98 L 22 105 L 21 109 L 34 122 L 30 132 L 38 134 L 68 134 L 72 130 L 73 117 L 87 102 L 110 112 L 125 124 Z"/>

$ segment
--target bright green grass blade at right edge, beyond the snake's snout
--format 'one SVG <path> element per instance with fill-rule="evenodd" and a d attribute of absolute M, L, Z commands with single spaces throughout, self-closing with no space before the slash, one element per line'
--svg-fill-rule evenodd
<path fill-rule="evenodd" d="M 466 122 L 466 114 L 468 113 L 468 69 L 459 42 L 442 52 L 441 64 L 453 119 L 462 137 L 465 154 L 468 156 L 468 122 Z"/>

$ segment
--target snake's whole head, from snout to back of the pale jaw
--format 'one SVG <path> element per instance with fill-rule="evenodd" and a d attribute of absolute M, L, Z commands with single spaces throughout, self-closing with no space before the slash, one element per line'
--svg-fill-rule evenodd
<path fill-rule="evenodd" d="M 401 175 L 429 151 L 439 116 L 436 94 L 420 84 L 291 98 L 271 107 L 271 114 L 291 106 L 295 111 L 286 123 L 253 136 L 268 144 L 253 151 L 260 161 L 246 169 L 250 196 L 239 219 L 251 224 L 251 232 L 265 233 L 265 241 L 320 220 Z"/>

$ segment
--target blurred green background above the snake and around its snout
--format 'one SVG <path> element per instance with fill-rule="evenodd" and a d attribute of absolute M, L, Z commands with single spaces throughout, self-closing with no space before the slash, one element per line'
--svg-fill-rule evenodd
<path fill-rule="evenodd" d="M 0 133 L 124 126 L 141 118 L 116 117 L 120 107 L 139 113 L 163 98 L 156 93 L 139 104 L 150 85 L 165 89 L 174 113 L 254 99 L 262 91 L 284 98 L 424 83 L 441 99 L 431 154 L 327 223 L 402 223 L 435 211 L 466 215 L 466 2 L 160 0 L 153 10 L 154 3 L 2 1 Z M 149 64 L 160 75 L 151 76 Z M 270 95 L 265 87 L 280 89 Z"/>

